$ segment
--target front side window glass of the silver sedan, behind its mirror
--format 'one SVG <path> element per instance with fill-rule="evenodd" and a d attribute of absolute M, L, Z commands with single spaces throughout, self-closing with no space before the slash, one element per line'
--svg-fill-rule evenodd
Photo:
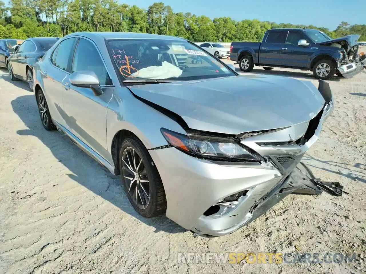
<path fill-rule="evenodd" d="M 59 53 L 57 53 L 57 56 Z M 93 58 L 90 58 L 90 57 Z M 111 85 L 107 69 L 98 53 L 96 47 L 85 39 L 80 39 L 76 47 L 74 62 L 72 63 L 72 72 L 75 71 L 93 71 L 100 85 Z"/>

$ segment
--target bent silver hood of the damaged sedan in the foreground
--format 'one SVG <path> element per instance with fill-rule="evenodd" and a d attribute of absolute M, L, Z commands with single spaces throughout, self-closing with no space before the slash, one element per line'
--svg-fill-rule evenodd
<path fill-rule="evenodd" d="M 325 102 L 310 81 L 280 76 L 231 76 L 128 88 L 138 97 L 178 114 L 190 129 L 225 134 L 305 122 Z"/>

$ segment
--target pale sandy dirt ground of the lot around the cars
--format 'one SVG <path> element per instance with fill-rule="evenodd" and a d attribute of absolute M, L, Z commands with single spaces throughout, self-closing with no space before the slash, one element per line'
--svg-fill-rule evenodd
<path fill-rule="evenodd" d="M 238 69 L 239 70 L 239 69 Z M 310 72 L 253 73 L 317 81 Z M 349 194 L 290 195 L 248 227 L 193 238 L 165 216 L 138 216 L 119 184 L 57 131 L 41 125 L 33 93 L 0 71 L 0 273 L 366 272 L 366 74 L 329 81 L 335 111 L 304 161 Z M 330 252 L 357 262 L 177 262 L 179 252 Z"/>

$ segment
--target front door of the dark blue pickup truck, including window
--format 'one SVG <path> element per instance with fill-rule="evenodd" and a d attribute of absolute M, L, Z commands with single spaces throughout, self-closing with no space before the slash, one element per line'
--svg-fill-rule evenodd
<path fill-rule="evenodd" d="M 283 57 L 280 59 L 280 65 L 294 66 L 298 68 L 307 68 L 310 64 L 310 56 L 313 51 L 310 46 L 299 46 L 299 40 L 307 40 L 310 45 L 310 39 L 298 30 L 290 30 L 287 35 L 285 49 L 282 50 Z"/>

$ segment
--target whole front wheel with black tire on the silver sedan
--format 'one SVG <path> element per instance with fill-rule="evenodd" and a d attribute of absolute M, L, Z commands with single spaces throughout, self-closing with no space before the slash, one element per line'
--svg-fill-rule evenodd
<path fill-rule="evenodd" d="M 132 158 L 132 153 L 134 153 L 135 160 L 137 159 L 135 162 L 139 162 L 138 159 L 142 160 L 140 165 L 139 163 L 136 163 L 135 167 L 137 168 L 133 167 L 134 164 L 129 163 L 132 170 L 137 171 L 137 175 L 133 175 L 132 170 L 128 169 L 127 162 L 128 159 Z M 131 160 L 132 159 L 130 159 L 130 161 Z M 159 172 L 153 163 L 149 152 L 137 137 L 128 137 L 122 142 L 119 151 L 119 168 L 124 191 L 133 208 L 141 216 L 151 218 L 166 212 L 167 200 L 165 198 L 163 182 L 161 182 Z M 136 184 L 136 181 L 131 184 L 131 180 L 135 180 L 136 178 L 139 184 Z M 148 181 L 148 184 L 145 182 L 142 185 L 142 181 L 146 180 Z M 147 188 L 149 194 L 147 194 Z M 134 195 L 136 197 L 136 202 Z M 146 201 L 146 198 L 149 198 L 149 201 Z M 141 203 L 139 203 L 138 200 L 140 200 Z M 146 205 L 144 205 L 143 201 Z M 144 208 L 144 206 L 146 207 Z"/>

